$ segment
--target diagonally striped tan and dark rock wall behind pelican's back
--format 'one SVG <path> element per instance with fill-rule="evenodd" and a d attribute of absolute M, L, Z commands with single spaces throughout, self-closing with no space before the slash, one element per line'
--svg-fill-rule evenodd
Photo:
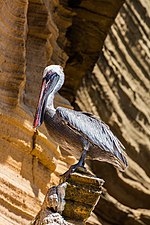
<path fill-rule="evenodd" d="M 108 224 L 150 223 L 150 2 L 127 1 L 76 103 L 107 122 L 126 147 L 124 174 L 92 162 L 106 194 L 95 213 Z M 110 213 L 111 212 L 111 213 Z"/>

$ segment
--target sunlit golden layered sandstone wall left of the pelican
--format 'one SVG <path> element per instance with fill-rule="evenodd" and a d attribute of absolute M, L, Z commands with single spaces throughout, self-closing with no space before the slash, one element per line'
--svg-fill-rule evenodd
<path fill-rule="evenodd" d="M 0 0 L 0 224 L 28 224 L 47 186 L 66 169 L 59 148 L 32 128 L 43 68 L 61 63 L 61 55 L 66 61 L 51 18 L 55 5 L 57 1 Z M 66 104 L 59 96 L 57 102 Z M 61 172 L 55 170 L 59 160 Z"/>

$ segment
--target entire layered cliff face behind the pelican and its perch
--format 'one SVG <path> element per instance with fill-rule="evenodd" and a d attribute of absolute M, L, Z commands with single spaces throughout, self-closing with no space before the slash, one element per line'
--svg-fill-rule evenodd
<path fill-rule="evenodd" d="M 149 223 L 150 5 L 146 0 L 127 1 L 102 51 L 122 4 L 0 0 L 0 224 L 27 224 L 47 188 L 75 161 L 50 141 L 44 126 L 38 135 L 32 129 L 47 64 L 65 67 L 61 94 L 73 101 L 78 90 L 76 106 L 99 115 L 127 148 L 125 174 L 91 163 L 106 180 L 107 191 L 95 210 L 97 217 L 88 223 Z M 71 107 L 59 95 L 55 104 Z"/>

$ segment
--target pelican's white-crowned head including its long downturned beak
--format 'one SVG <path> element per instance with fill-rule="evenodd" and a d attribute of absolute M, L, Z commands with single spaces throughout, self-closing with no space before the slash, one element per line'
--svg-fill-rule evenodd
<path fill-rule="evenodd" d="M 64 72 L 61 66 L 51 65 L 44 69 L 39 102 L 33 123 L 34 128 L 39 127 L 44 120 L 48 96 L 51 95 L 53 98 L 54 94 L 61 88 L 63 83 Z"/>

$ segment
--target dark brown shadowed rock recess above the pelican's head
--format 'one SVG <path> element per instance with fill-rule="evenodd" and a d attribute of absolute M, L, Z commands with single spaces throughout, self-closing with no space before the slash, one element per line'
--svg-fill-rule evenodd
<path fill-rule="evenodd" d="M 66 81 L 61 93 L 71 102 L 80 82 L 99 57 L 104 39 L 124 0 L 61 0 L 75 13 L 66 32 L 65 50 L 69 56 L 65 67 Z M 70 76 L 71 74 L 71 76 Z"/>

